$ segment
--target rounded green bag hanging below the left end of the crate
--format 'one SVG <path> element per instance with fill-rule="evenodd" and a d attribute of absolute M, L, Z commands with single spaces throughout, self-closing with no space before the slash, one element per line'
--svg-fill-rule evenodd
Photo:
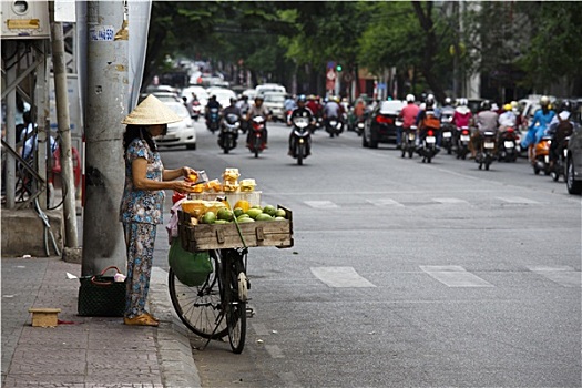
<path fill-rule="evenodd" d="M 206 251 L 188 252 L 182 247 L 180 238 L 172 241 L 167 262 L 177 279 L 188 287 L 202 286 L 214 270 L 211 256 Z"/>

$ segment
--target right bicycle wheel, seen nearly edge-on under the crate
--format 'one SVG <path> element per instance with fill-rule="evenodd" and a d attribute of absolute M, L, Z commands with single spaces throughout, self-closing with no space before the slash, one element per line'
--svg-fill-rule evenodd
<path fill-rule="evenodd" d="M 224 274 L 227 283 L 224 285 L 224 296 L 228 340 L 233 351 L 241 354 L 245 347 L 246 337 L 246 272 L 243 256 L 238 252 L 229 251 L 225 258 Z"/>

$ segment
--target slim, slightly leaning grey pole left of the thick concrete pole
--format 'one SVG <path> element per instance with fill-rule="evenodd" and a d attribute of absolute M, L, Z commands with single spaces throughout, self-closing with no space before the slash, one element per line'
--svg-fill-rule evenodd
<path fill-rule="evenodd" d="M 67 67 L 64 64 L 64 39 L 60 22 L 54 21 L 54 1 L 49 1 L 52 39 L 52 69 L 54 73 L 54 95 L 57 101 L 57 123 L 59 127 L 61 173 L 63 182 L 64 246 L 76 248 L 76 208 L 71 157 L 71 124 L 69 120 L 69 95 L 67 92 Z"/>

